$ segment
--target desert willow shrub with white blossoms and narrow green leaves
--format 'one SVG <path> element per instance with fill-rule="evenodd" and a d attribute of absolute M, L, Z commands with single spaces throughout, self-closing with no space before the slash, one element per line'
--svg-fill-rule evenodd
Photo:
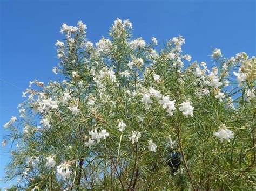
<path fill-rule="evenodd" d="M 93 44 L 86 25 L 62 25 L 63 81 L 37 80 L 4 125 L 7 180 L 18 188 L 254 189 L 255 58 L 191 62 L 182 36 L 159 48 L 117 19 Z M 186 67 L 185 67 L 186 66 Z"/>

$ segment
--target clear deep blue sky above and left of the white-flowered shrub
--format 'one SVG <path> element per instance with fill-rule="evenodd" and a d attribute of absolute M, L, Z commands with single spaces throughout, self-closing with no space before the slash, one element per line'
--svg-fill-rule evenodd
<path fill-rule="evenodd" d="M 212 48 L 224 56 L 244 51 L 255 55 L 255 1 L 11 1 L 0 0 L 0 140 L 2 126 L 18 116 L 29 81 L 55 80 L 55 42 L 62 23 L 87 24 L 93 43 L 107 32 L 113 21 L 129 19 L 134 37 L 159 44 L 174 36 L 186 39 L 183 51 L 192 61 L 210 62 Z M 9 160 L 10 143 L 0 147 L 0 179 Z M 0 188 L 9 183 L 0 182 Z"/>

